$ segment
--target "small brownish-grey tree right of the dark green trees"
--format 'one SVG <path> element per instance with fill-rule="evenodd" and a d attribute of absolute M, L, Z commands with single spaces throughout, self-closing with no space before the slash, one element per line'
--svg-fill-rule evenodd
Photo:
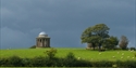
<path fill-rule="evenodd" d="M 126 50 L 127 49 L 127 44 L 128 44 L 128 39 L 125 36 L 122 36 L 121 40 L 120 40 L 120 43 L 119 43 L 120 47 L 122 50 Z"/>

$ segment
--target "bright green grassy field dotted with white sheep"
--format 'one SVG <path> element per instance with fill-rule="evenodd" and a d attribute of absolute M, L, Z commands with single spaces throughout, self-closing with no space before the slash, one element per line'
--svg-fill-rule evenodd
<path fill-rule="evenodd" d="M 9 57 L 17 55 L 20 57 L 35 57 L 46 56 L 44 52 L 49 49 L 20 49 L 20 50 L 0 50 L 0 57 Z M 76 58 L 87 60 L 136 60 L 134 51 L 89 51 L 85 49 L 69 49 L 69 47 L 57 47 L 57 57 L 65 57 L 69 52 L 74 53 Z"/>

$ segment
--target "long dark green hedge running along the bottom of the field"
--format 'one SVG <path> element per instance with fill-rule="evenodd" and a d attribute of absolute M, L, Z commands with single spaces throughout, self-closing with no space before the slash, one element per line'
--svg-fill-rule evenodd
<path fill-rule="evenodd" d="M 0 58 L 0 67 L 125 67 L 136 68 L 136 60 L 126 62 L 88 62 L 75 58 L 73 53 L 69 53 L 64 58 L 48 56 L 38 56 L 34 58 L 21 58 L 11 56 L 9 58 Z"/>

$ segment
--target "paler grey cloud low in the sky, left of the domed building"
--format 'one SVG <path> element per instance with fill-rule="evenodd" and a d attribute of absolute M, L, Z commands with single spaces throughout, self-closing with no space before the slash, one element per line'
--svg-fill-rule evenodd
<path fill-rule="evenodd" d="M 8 27 L 3 27 L 1 30 L 1 47 L 25 47 L 32 42 L 28 33 Z"/>

